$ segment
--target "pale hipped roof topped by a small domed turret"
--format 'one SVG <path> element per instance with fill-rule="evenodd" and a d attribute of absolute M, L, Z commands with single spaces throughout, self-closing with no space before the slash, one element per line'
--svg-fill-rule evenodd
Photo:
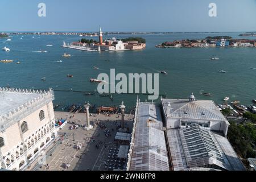
<path fill-rule="evenodd" d="M 167 117 L 226 121 L 213 101 L 162 99 L 162 104 Z M 171 105 L 169 108 L 168 104 Z"/>

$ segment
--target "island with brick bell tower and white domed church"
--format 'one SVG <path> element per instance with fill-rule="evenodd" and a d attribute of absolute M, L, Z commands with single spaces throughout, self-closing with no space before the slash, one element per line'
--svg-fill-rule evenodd
<path fill-rule="evenodd" d="M 126 39 L 107 39 L 103 40 L 103 32 L 100 27 L 98 42 L 93 39 L 81 39 L 78 42 L 66 44 L 63 42 L 64 48 L 79 49 L 82 51 L 127 51 L 146 48 L 146 40 L 139 37 L 130 37 Z"/>

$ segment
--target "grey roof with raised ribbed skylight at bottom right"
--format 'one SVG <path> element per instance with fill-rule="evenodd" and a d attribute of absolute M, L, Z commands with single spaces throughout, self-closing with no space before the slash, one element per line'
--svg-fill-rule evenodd
<path fill-rule="evenodd" d="M 197 167 L 245 169 L 228 139 L 197 124 L 185 129 L 167 130 L 167 138 L 175 171 Z"/>

